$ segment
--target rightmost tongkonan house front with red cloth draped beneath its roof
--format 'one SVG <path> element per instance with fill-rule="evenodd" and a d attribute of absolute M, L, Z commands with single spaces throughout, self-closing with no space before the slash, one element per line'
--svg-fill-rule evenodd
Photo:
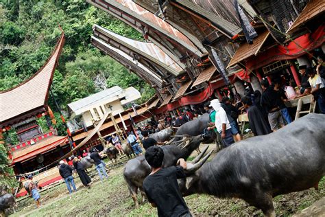
<path fill-rule="evenodd" d="M 288 86 L 300 86 L 298 66 L 312 66 L 315 56 L 324 54 L 324 22 L 319 21 L 324 20 L 325 2 L 249 2 L 262 21 L 268 20 L 268 23 L 259 29 L 252 45 L 239 45 L 228 68 L 237 64 L 245 69 L 242 78 L 252 80 L 257 76 L 261 80 L 265 77 L 269 83 L 281 78 Z M 252 86 L 256 87 L 256 81 L 254 83 Z"/>

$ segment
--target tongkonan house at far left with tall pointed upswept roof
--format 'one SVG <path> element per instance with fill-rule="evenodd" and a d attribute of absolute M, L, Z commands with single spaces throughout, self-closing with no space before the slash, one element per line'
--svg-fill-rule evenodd
<path fill-rule="evenodd" d="M 71 150 L 68 138 L 58 136 L 51 126 L 54 117 L 47 104 L 63 45 L 64 32 L 39 71 L 16 87 L 0 92 L 0 137 L 2 139 L 5 131 L 14 128 L 19 139 L 19 144 L 9 144 L 10 165 L 17 175 L 26 172 L 38 174 L 35 180 L 39 181 L 40 186 L 61 179 L 46 166 Z M 49 132 L 44 132 L 38 125 L 37 119 L 43 116 L 47 119 Z M 26 192 L 21 191 L 18 196 L 24 194 Z"/>

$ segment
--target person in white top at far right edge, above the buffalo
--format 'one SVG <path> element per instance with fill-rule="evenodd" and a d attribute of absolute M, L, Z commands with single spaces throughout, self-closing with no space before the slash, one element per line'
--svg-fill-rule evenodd
<path fill-rule="evenodd" d="M 316 74 L 315 70 L 311 67 L 306 69 L 306 74 L 309 76 L 309 84 L 311 84 L 311 94 L 317 100 L 320 113 L 325 114 L 325 88 L 324 80 L 320 75 Z"/>

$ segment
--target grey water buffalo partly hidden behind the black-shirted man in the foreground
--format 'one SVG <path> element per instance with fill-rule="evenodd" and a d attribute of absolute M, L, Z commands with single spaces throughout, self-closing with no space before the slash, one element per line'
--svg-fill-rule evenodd
<path fill-rule="evenodd" d="M 185 139 L 186 140 L 186 139 Z M 185 144 L 182 148 L 180 146 L 175 145 L 166 145 L 162 146 L 164 150 L 164 167 L 169 167 L 171 165 L 176 165 L 176 162 L 180 158 L 187 159 L 195 148 L 200 146 L 202 141 L 202 136 L 191 137 L 185 141 Z M 130 190 L 130 194 L 133 198 L 134 205 L 139 207 L 138 200 L 136 198 L 136 194 L 138 193 L 138 189 L 141 192 L 143 201 L 145 198 L 145 194 L 143 192 L 142 183 L 145 177 L 147 177 L 151 172 L 151 168 L 147 161 L 145 161 L 144 156 L 139 156 L 134 159 L 128 161 L 125 164 L 125 168 L 123 171 L 123 176 L 128 184 L 128 188 Z"/>

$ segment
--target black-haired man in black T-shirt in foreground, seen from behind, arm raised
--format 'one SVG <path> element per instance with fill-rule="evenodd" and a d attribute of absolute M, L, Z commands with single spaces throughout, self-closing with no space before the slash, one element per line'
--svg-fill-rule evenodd
<path fill-rule="evenodd" d="M 143 189 L 149 203 L 157 207 L 158 216 L 191 216 L 177 182 L 186 177 L 184 159 L 178 160 L 178 166 L 162 168 L 164 152 L 158 146 L 148 148 L 145 159 L 152 166 L 152 173 L 143 181 Z"/>

